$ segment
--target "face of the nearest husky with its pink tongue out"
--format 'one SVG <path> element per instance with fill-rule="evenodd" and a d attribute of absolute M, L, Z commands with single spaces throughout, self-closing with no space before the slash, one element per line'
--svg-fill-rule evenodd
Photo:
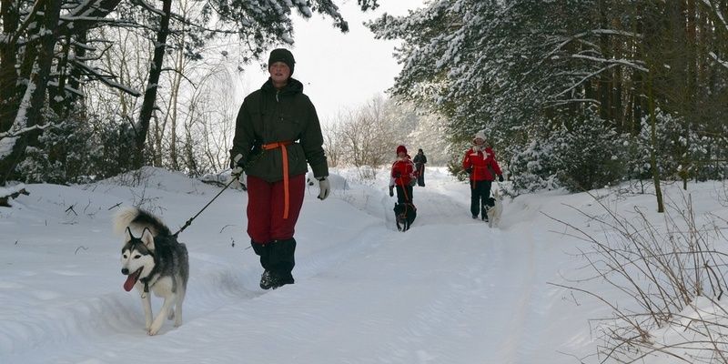
<path fill-rule="evenodd" d="M 141 238 L 135 238 L 126 227 L 126 244 L 121 249 L 121 274 L 127 276 L 126 291 L 134 288 L 139 278 L 145 278 L 154 268 L 154 237 L 145 228 Z"/>

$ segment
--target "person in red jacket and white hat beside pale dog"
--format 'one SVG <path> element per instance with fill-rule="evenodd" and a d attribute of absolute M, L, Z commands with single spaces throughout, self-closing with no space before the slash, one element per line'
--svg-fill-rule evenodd
<path fill-rule="evenodd" d="M 470 175 L 470 212 L 472 218 L 488 221 L 485 203 L 490 197 L 490 185 L 496 176 L 503 181 L 503 173 L 495 160 L 493 149 L 485 146 L 485 134 L 479 131 L 472 140 L 473 146 L 462 158 L 462 169 Z"/>

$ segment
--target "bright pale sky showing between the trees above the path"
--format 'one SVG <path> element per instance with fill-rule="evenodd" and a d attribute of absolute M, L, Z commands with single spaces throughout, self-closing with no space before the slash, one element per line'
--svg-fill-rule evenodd
<path fill-rule="evenodd" d="M 295 44 L 284 47 L 296 58 L 293 77 L 304 84 L 304 94 L 310 97 L 324 123 L 337 116 L 339 110 L 353 109 L 374 96 L 384 95 L 399 75 L 401 66 L 392 56 L 399 42 L 374 39 L 362 22 L 384 13 L 407 15 L 408 9 L 423 6 L 423 0 L 379 3 L 375 11 L 366 13 L 359 10 L 354 0 L 339 4 L 341 14 L 349 22 L 349 32 L 343 34 L 321 15 L 308 20 L 294 15 Z M 258 66 L 247 69 L 244 93 L 252 92 L 268 79 L 268 73 Z"/>

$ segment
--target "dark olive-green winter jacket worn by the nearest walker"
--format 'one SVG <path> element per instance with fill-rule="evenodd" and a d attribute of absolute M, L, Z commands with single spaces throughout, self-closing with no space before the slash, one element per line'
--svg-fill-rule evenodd
<path fill-rule="evenodd" d="M 323 149 L 323 136 L 316 108 L 303 94 L 303 84 L 294 78 L 277 90 L 270 78 L 248 95 L 240 106 L 230 157 L 238 154 L 246 161 L 246 174 L 277 182 L 283 179 L 281 148 L 261 150 L 276 142 L 288 145 L 288 176 L 297 176 L 311 166 L 315 177 L 329 176 Z"/>

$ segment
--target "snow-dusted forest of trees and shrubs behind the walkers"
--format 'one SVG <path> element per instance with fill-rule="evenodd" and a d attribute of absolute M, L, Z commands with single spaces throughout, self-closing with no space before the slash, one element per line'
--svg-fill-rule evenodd
<path fill-rule="evenodd" d="M 2 186 L 223 171 L 237 74 L 293 44 L 292 16 L 349 27 L 330 0 L 0 5 Z M 401 41 L 402 69 L 388 98 L 325 124 L 329 162 L 371 177 L 405 141 L 461 176 L 484 130 L 515 194 L 637 179 L 660 204 L 660 181 L 726 177 L 727 12 L 726 0 L 432 0 L 381 15 L 369 29 Z"/>

